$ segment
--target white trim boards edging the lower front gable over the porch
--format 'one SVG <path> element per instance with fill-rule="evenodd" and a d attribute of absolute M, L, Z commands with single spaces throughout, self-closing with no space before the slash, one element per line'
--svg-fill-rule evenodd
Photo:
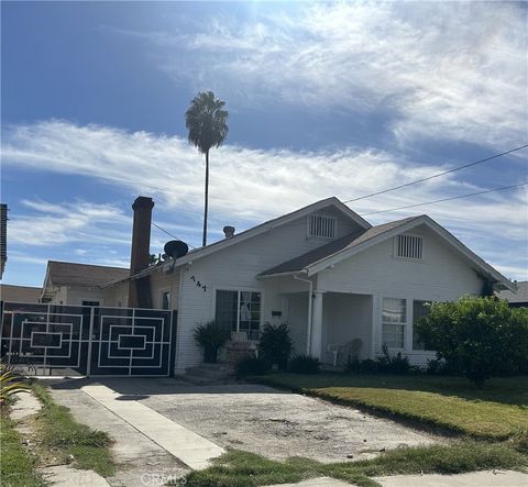
<path fill-rule="evenodd" d="M 344 251 L 338 252 L 333 255 L 330 255 L 328 257 L 324 257 L 317 263 L 306 267 L 308 270 L 308 276 L 312 276 L 320 270 L 323 270 L 331 265 L 338 264 L 339 262 L 351 257 L 352 255 L 359 254 L 362 251 L 365 251 L 381 242 L 384 242 L 395 235 L 398 235 L 399 233 L 405 233 L 410 229 L 414 229 L 415 226 L 425 224 L 428 226 L 430 230 L 432 230 L 435 233 L 437 233 L 439 236 L 441 236 L 443 240 L 446 240 L 448 243 L 450 243 L 455 250 L 458 250 L 466 259 L 469 259 L 473 265 L 475 265 L 477 268 L 481 269 L 484 274 L 490 275 L 493 277 L 495 280 L 498 283 L 502 283 L 505 287 L 510 289 L 512 291 L 516 291 L 516 286 L 507 279 L 505 276 L 503 276 L 498 270 L 493 268 L 490 264 L 487 264 L 483 258 L 479 257 L 473 251 L 468 248 L 462 242 L 460 242 L 455 236 L 453 236 L 450 232 L 448 232 L 443 226 L 439 225 L 435 220 L 430 219 L 427 214 L 422 214 L 421 217 L 417 217 L 416 219 L 400 225 L 396 226 L 393 230 L 388 230 L 384 233 L 381 233 L 377 236 L 374 236 L 372 239 L 369 239 L 367 241 L 352 247 L 352 248 L 345 248 Z"/>

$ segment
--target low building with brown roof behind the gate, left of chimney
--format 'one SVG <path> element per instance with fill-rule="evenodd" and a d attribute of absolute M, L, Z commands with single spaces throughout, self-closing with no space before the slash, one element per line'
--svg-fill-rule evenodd
<path fill-rule="evenodd" d="M 111 283 L 129 276 L 121 267 L 48 261 L 41 302 L 127 307 L 128 289 Z"/>

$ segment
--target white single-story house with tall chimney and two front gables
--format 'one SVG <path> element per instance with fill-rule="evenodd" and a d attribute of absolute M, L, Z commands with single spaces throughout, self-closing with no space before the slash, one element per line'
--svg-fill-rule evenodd
<path fill-rule="evenodd" d="M 132 252 L 133 261 L 148 252 L 152 207 L 150 198 L 134 202 L 132 248 L 142 251 Z M 193 331 L 211 319 L 254 341 L 265 322 L 288 322 L 295 352 L 326 363 L 334 358 L 329 351 L 355 340 L 361 358 L 387 344 L 424 365 L 433 353 L 424 350 L 413 323 L 426 302 L 480 295 L 488 283 L 516 290 L 429 217 L 372 226 L 337 198 L 176 259 L 131 264 L 141 267 L 99 283 L 97 294 L 105 306 L 136 296 L 131 306 L 177 310 L 176 373 L 201 362 Z"/>

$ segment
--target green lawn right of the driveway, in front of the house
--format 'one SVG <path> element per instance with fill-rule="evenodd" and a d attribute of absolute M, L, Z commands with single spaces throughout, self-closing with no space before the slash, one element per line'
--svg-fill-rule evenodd
<path fill-rule="evenodd" d="M 476 439 L 528 434 L 528 376 L 495 378 L 483 389 L 463 378 L 440 376 L 324 373 L 255 379 Z"/>

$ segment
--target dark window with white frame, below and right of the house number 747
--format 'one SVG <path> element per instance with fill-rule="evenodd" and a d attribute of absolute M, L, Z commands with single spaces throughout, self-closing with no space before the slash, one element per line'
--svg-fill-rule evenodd
<path fill-rule="evenodd" d="M 228 330 L 245 331 L 250 340 L 258 340 L 261 300 L 261 292 L 217 290 L 216 320 Z"/>

